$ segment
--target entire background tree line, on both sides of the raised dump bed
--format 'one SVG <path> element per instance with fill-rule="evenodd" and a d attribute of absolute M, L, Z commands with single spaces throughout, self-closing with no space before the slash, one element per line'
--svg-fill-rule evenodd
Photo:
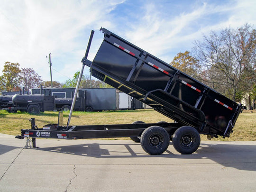
<path fill-rule="evenodd" d="M 217 33 L 211 31 L 201 41 L 195 40 L 191 51 L 178 53 L 170 62 L 175 68 L 191 75 L 207 86 L 240 102 L 245 94 L 256 99 L 256 30 L 249 24 L 225 28 Z M 19 69 L 18 63 L 6 62 L 0 76 L 0 91 L 18 91 L 37 88 L 43 82 L 33 69 Z M 80 72 L 64 84 L 53 82 L 55 87 L 76 87 Z M 82 75 L 80 88 L 110 87 L 99 80 Z"/>

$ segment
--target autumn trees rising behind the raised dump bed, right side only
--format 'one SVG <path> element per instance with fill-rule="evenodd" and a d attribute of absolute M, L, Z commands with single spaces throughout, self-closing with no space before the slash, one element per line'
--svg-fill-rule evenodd
<path fill-rule="evenodd" d="M 170 64 L 233 101 L 256 100 L 256 30 L 248 24 L 211 31 Z"/>

